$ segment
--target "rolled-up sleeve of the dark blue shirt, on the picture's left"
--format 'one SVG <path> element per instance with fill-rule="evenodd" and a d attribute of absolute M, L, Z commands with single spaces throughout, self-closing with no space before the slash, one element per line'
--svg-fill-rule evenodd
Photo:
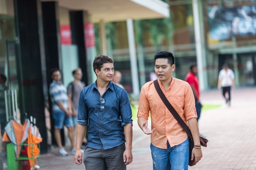
<path fill-rule="evenodd" d="M 84 99 L 84 89 L 83 89 L 79 97 L 77 124 L 88 126 L 88 111 L 87 111 L 87 106 L 84 103 L 84 100 L 85 99 Z"/>

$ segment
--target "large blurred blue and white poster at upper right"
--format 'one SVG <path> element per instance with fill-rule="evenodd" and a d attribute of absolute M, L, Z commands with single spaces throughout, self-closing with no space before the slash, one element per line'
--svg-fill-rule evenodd
<path fill-rule="evenodd" d="M 256 36 L 256 5 L 207 7 L 211 39 Z"/>

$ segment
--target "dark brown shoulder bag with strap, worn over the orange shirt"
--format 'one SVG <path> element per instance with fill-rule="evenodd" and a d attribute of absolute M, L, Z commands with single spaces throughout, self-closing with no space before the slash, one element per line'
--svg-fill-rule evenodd
<path fill-rule="evenodd" d="M 192 149 L 194 148 L 194 141 L 193 141 L 192 133 L 191 133 L 189 127 L 182 120 L 182 118 L 177 113 L 177 111 L 172 107 L 171 103 L 167 100 L 167 98 L 165 97 L 163 91 L 161 90 L 157 80 L 154 81 L 154 85 L 155 85 L 155 88 L 156 88 L 156 91 L 157 91 L 158 95 L 160 96 L 160 98 L 164 102 L 167 109 L 171 112 L 172 116 L 177 120 L 177 122 L 180 124 L 180 126 L 183 128 L 183 130 L 188 134 L 188 138 L 189 138 L 189 161 L 188 161 L 188 165 L 189 166 L 196 165 L 195 158 L 193 160 L 191 160 Z M 203 138 L 202 136 L 199 136 L 199 139 L 200 139 L 200 144 L 204 147 L 207 147 L 208 140 L 206 138 Z"/>

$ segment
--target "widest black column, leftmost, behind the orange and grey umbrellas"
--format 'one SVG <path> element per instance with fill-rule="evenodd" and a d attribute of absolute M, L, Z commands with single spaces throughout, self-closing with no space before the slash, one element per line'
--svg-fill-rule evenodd
<path fill-rule="evenodd" d="M 36 118 L 47 152 L 44 102 L 47 94 L 41 3 L 39 0 L 14 0 L 17 35 L 17 66 L 20 84 L 20 113 Z"/>

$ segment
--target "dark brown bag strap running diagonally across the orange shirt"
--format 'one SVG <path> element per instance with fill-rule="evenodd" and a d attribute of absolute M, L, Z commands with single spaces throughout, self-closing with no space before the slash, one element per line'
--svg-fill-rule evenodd
<path fill-rule="evenodd" d="M 190 129 L 188 128 L 187 124 L 182 120 L 180 115 L 177 113 L 177 111 L 172 107 L 171 103 L 165 97 L 162 89 L 159 86 L 159 83 L 158 83 L 157 79 L 154 81 L 154 85 L 155 85 L 155 88 L 156 88 L 156 91 L 157 91 L 158 95 L 160 96 L 160 98 L 164 102 L 167 109 L 171 112 L 172 116 L 177 120 L 177 122 L 180 124 L 180 126 L 188 134 L 189 138 L 193 139 L 192 133 L 191 133 Z"/>

